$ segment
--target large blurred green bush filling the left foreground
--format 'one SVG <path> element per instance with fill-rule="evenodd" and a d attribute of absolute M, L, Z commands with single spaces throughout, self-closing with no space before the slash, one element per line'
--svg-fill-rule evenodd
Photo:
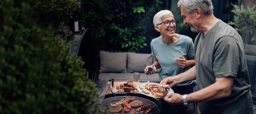
<path fill-rule="evenodd" d="M 97 90 L 83 61 L 52 29 L 40 29 L 29 0 L 0 2 L 0 113 L 87 113 Z"/>

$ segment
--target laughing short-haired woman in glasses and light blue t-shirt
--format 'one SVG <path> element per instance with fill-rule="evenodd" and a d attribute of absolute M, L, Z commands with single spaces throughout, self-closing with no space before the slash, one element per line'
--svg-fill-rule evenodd
<path fill-rule="evenodd" d="M 187 71 L 190 66 L 194 65 L 194 44 L 193 40 L 185 35 L 175 33 L 177 20 L 169 10 L 161 10 L 153 19 L 154 28 L 160 32 L 161 36 L 151 41 L 152 55 L 155 58 L 154 71 L 159 71 L 159 80 L 175 76 Z M 147 66 L 147 68 L 152 67 Z M 146 75 L 150 75 L 144 70 Z M 177 84 L 172 87 L 175 93 L 189 94 L 193 92 L 193 81 Z M 169 106 L 169 112 L 172 114 L 185 114 L 186 106 Z"/>

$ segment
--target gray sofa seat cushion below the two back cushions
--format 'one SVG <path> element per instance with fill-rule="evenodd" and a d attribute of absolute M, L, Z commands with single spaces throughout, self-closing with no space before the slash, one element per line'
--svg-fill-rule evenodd
<path fill-rule="evenodd" d="M 159 75 L 158 73 L 152 74 L 152 75 L 146 75 L 144 73 L 140 74 L 140 82 L 156 82 L 159 83 L 158 79 Z M 132 81 L 133 80 L 133 73 L 100 73 L 98 76 L 98 80 L 107 80 L 113 78 L 115 81 L 118 82 L 126 82 L 126 81 Z"/>

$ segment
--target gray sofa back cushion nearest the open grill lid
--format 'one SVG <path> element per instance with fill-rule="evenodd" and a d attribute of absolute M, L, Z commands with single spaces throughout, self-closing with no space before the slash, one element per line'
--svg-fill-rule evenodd
<path fill-rule="evenodd" d="M 99 73 L 127 73 L 127 52 L 100 51 Z"/>

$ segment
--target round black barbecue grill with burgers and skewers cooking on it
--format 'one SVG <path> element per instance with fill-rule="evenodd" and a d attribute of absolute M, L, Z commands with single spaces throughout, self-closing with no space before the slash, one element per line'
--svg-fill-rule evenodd
<path fill-rule="evenodd" d="M 100 114 L 102 113 L 103 109 L 113 103 L 116 103 L 117 101 L 124 99 L 126 96 L 134 96 L 136 100 L 141 100 L 144 105 L 150 105 L 154 106 L 153 111 L 150 114 L 160 114 L 161 112 L 161 103 L 152 97 L 146 96 L 144 94 L 139 94 L 139 93 L 130 93 L 130 92 L 121 92 L 121 93 L 113 93 L 113 94 L 106 94 L 105 98 L 101 101 L 98 101 L 91 105 L 89 108 L 89 113 L 90 114 Z M 146 109 L 136 112 L 136 114 L 144 114 L 147 109 L 150 107 L 148 106 Z M 131 114 L 133 111 L 135 111 L 137 108 L 132 108 L 130 109 L 129 112 L 126 112 L 126 114 Z M 121 114 L 121 112 L 119 112 Z"/>

